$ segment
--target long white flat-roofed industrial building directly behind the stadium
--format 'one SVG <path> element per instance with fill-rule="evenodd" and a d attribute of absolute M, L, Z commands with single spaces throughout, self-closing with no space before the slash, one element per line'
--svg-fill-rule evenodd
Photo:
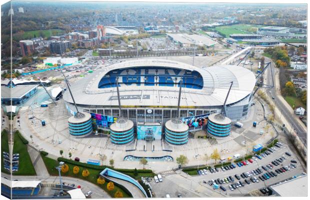
<path fill-rule="evenodd" d="M 204 45 L 206 47 L 212 47 L 216 44 L 215 41 L 203 35 L 187 33 L 167 33 L 167 35 L 171 40 L 178 42 L 183 47 L 190 47 L 194 45 Z"/>

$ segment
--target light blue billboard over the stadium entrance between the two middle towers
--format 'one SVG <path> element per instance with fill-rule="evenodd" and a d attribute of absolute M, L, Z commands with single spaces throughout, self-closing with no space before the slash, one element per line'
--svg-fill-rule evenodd
<path fill-rule="evenodd" d="M 136 126 L 137 139 L 161 139 L 161 125 L 139 125 Z"/>

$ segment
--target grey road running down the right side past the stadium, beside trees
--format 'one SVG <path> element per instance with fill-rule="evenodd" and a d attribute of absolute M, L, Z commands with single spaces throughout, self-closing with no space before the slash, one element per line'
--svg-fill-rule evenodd
<path fill-rule="evenodd" d="M 273 74 L 273 80 L 275 81 L 275 67 L 274 67 L 274 63 L 271 59 L 269 59 L 268 57 L 265 57 L 265 62 L 269 62 L 271 61 L 271 67 L 272 67 L 272 74 Z M 267 84 L 271 85 L 272 84 L 272 78 L 271 78 L 271 73 L 269 69 L 266 69 L 265 71 L 265 76 L 266 76 L 266 81 Z M 279 89 L 279 85 L 277 86 Z M 296 131 L 298 137 L 301 139 L 302 142 L 304 142 L 305 146 L 306 141 L 307 141 L 307 132 L 306 130 L 300 125 L 298 118 L 295 117 L 294 114 L 292 114 L 290 112 L 290 110 L 287 109 L 287 107 L 284 105 L 284 103 L 282 102 L 282 100 L 279 99 L 279 95 L 276 92 L 276 87 L 272 87 L 270 89 L 268 89 L 268 91 L 271 92 L 267 92 L 267 95 L 270 96 L 270 98 L 274 97 L 274 104 L 275 106 L 278 107 L 279 110 L 282 111 L 282 115 L 285 117 L 285 119 L 289 122 L 290 125 L 292 125 L 292 127 L 294 128 L 294 130 Z"/>

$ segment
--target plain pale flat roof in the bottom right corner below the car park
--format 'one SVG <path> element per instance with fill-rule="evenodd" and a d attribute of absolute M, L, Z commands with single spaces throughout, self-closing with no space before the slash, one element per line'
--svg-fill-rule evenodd
<path fill-rule="evenodd" d="M 307 175 L 302 175 L 270 186 L 280 196 L 306 196 Z"/>

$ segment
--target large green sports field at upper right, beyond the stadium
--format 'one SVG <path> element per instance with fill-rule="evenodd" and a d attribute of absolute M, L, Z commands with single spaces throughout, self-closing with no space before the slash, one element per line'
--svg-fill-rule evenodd
<path fill-rule="evenodd" d="M 234 24 L 234 25 L 217 26 L 215 27 L 215 30 L 217 30 L 221 34 L 224 34 L 225 37 L 229 37 L 230 34 L 255 33 L 257 31 L 257 27 L 262 26 L 252 24 Z"/>

